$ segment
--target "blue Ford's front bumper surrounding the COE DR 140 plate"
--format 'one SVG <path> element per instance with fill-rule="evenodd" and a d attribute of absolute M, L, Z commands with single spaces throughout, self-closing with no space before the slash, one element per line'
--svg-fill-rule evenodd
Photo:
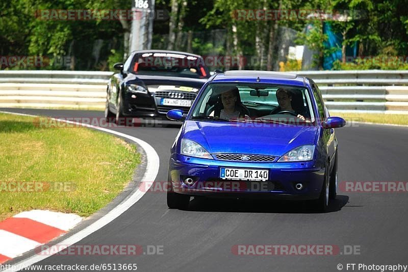
<path fill-rule="evenodd" d="M 222 180 L 221 167 L 268 169 L 267 181 Z M 174 192 L 220 197 L 267 197 L 270 199 L 318 199 L 323 187 L 324 168 L 308 162 L 232 162 L 173 154 L 170 175 Z M 192 179 L 187 185 L 184 180 Z M 303 188 L 297 190 L 295 185 Z"/>

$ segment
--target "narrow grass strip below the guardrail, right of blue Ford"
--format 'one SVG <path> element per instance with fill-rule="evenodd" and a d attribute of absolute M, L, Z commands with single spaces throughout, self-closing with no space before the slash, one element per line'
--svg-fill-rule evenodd
<path fill-rule="evenodd" d="M 389 123 L 394 125 L 408 125 L 408 115 L 380 114 L 380 113 L 341 113 L 330 112 L 331 116 L 340 116 L 348 121 Z"/>

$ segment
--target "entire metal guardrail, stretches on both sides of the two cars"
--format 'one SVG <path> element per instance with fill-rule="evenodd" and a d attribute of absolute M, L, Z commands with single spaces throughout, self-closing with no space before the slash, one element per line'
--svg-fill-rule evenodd
<path fill-rule="evenodd" d="M 329 110 L 408 114 L 408 70 L 295 71 L 312 78 Z M 0 107 L 103 109 L 113 72 L 0 71 Z M 397 86 L 395 86 L 397 85 Z"/>

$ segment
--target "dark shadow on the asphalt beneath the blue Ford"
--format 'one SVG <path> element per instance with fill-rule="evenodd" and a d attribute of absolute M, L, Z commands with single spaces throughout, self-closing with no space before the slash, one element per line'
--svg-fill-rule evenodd
<path fill-rule="evenodd" d="M 337 195 L 330 201 L 329 212 L 340 211 L 348 202 L 347 195 Z M 189 211 L 196 212 L 250 212 L 250 213 L 321 213 L 310 201 L 272 201 L 252 199 L 212 199 L 194 197 Z"/>

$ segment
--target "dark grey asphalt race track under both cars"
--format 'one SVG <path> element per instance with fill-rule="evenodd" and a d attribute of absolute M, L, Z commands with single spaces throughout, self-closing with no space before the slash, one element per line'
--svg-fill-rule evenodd
<path fill-rule="evenodd" d="M 52 117 L 102 117 L 103 112 L 0 109 Z M 121 127 L 160 156 L 156 181 L 166 181 L 170 146 L 180 126 Z M 339 182 L 407 182 L 408 128 L 363 125 L 337 129 Z M 51 256 L 38 264 L 129 264 L 138 271 L 338 271 L 347 263 L 407 265 L 408 192 L 339 192 L 331 212 L 308 203 L 194 199 L 170 210 L 165 192 L 147 192 L 131 209 L 78 244 L 162 245 L 163 255 Z M 242 256 L 234 245 L 338 245 L 335 256 Z M 344 245 L 360 254 L 347 255 Z M 358 252 L 356 252 L 358 253 Z M 349 271 L 351 268 L 349 268 Z M 355 267 L 354 270 L 357 270 Z"/>

